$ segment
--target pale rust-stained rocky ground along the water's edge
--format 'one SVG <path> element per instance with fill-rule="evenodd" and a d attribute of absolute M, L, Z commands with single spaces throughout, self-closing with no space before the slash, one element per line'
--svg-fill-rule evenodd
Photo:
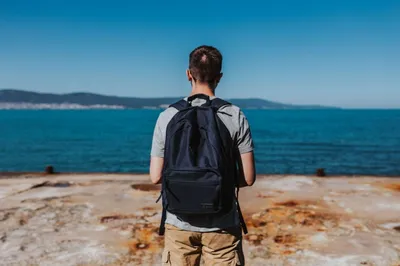
<path fill-rule="evenodd" d="M 160 265 L 145 175 L 0 178 L 0 265 Z M 241 190 L 246 265 L 400 265 L 400 178 L 259 176 Z"/>

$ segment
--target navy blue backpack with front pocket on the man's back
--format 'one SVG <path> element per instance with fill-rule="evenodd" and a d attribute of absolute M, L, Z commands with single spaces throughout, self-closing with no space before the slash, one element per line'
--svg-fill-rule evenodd
<path fill-rule="evenodd" d="M 194 99 L 205 103 L 192 106 Z M 230 103 L 197 94 L 170 107 L 178 113 L 167 126 L 162 171 L 163 235 L 166 212 L 189 216 L 227 213 L 236 207 L 244 233 L 246 225 L 238 202 L 239 153 L 229 130 L 217 115 Z"/>

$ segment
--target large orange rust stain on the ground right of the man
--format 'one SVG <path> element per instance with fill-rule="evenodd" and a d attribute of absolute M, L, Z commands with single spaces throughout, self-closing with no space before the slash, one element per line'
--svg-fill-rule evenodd
<path fill-rule="evenodd" d="M 275 203 L 274 207 L 249 215 L 249 234 L 244 239 L 254 246 L 268 246 L 272 253 L 292 254 L 302 248 L 305 239 L 299 232 L 326 231 L 326 226 L 337 226 L 340 217 L 318 205 L 299 200 Z"/>

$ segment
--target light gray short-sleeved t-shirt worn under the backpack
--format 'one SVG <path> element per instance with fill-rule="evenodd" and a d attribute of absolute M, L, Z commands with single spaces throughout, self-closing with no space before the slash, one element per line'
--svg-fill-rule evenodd
<path fill-rule="evenodd" d="M 215 97 L 211 97 L 213 99 Z M 187 100 L 187 98 L 185 98 Z M 204 104 L 202 99 L 194 99 L 192 105 L 199 106 Z M 178 111 L 175 108 L 164 110 L 158 117 L 154 129 L 151 156 L 164 157 L 165 136 L 168 123 Z M 246 117 L 239 107 L 228 105 L 218 111 L 218 117 L 229 130 L 232 139 L 235 141 L 241 154 L 253 151 L 253 140 L 251 137 L 250 126 Z M 220 229 L 238 226 L 239 215 L 236 207 L 230 212 L 220 216 L 184 216 L 167 212 L 166 223 L 174 225 L 182 230 L 193 232 L 211 232 Z"/>

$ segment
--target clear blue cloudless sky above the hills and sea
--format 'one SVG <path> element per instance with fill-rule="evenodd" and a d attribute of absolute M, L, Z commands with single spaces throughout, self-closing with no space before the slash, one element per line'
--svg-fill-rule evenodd
<path fill-rule="evenodd" d="M 0 88 L 182 96 L 202 44 L 221 97 L 400 108 L 400 1 L 0 0 Z"/>

